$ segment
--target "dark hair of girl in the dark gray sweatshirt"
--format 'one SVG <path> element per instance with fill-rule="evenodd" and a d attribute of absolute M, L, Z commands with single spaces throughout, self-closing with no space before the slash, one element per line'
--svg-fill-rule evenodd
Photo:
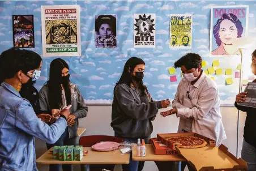
<path fill-rule="evenodd" d="M 133 71 L 136 65 L 145 65 L 145 62 L 137 57 L 131 57 L 126 61 L 125 66 L 123 67 L 123 73 L 121 75 L 120 80 L 116 83 L 116 86 L 118 84 L 127 84 L 127 86 L 130 87 L 131 83 L 133 83 L 136 88 L 139 88 L 140 91 L 142 91 L 143 96 L 146 96 L 147 89 L 146 86 L 144 86 L 143 81 L 136 82 L 135 84 L 135 81 L 133 79 Z M 114 89 L 116 88 L 116 86 L 114 87 Z"/>

